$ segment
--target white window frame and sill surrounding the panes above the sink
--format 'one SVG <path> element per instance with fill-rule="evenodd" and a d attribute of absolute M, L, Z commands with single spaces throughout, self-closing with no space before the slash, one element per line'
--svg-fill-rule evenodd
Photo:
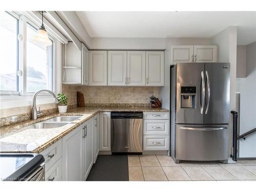
<path fill-rule="evenodd" d="M 18 91 L 1 91 L 1 109 L 14 108 L 18 106 L 27 106 L 32 104 L 34 93 L 26 92 L 26 44 L 27 44 L 27 23 L 35 28 L 39 28 L 32 20 L 28 19 L 25 15 L 17 12 L 9 12 L 9 14 L 18 19 L 18 70 L 22 73 L 18 76 Z M 52 91 L 57 94 L 61 92 L 61 42 L 53 36 L 49 35 L 49 38 L 53 40 L 52 48 Z M 38 104 L 53 103 L 54 99 L 49 93 L 40 93 L 37 96 Z"/>

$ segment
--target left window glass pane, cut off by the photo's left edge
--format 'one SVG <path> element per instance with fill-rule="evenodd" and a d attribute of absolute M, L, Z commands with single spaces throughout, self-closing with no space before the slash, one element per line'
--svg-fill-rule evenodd
<path fill-rule="evenodd" d="M 17 91 L 17 61 L 18 61 L 18 19 L 7 12 L 0 12 L 0 90 Z"/>

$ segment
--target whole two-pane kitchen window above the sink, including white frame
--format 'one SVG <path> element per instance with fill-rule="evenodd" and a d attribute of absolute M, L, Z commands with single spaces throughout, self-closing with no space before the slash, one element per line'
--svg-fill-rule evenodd
<path fill-rule="evenodd" d="M 33 42 L 39 26 L 26 16 L 2 11 L 0 19 L 0 95 L 32 96 L 41 89 L 56 91 L 55 38 L 49 35 L 52 45 L 39 46 Z"/>

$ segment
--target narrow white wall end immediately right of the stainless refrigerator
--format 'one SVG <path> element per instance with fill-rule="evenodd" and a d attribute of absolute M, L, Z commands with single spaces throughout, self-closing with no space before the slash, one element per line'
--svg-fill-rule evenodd
<path fill-rule="evenodd" d="M 219 62 L 230 62 L 230 102 L 229 111 L 236 110 L 236 77 L 237 77 L 237 26 L 229 26 L 211 38 L 212 45 L 219 47 Z M 232 150 L 232 117 L 229 120 L 230 139 L 229 153 Z"/>

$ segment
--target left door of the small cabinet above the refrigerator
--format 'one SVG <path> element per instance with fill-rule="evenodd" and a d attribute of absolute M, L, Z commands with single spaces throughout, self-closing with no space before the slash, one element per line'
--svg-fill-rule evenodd
<path fill-rule="evenodd" d="M 194 46 L 170 46 L 170 63 L 193 62 Z"/>

